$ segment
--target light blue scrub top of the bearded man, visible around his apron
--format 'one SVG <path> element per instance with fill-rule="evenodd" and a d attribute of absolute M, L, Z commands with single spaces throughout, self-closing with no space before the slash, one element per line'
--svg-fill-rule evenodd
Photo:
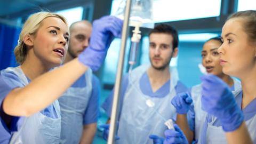
<path fill-rule="evenodd" d="M 124 75 L 123 81 L 122 81 L 122 89 L 121 89 L 121 97 L 120 97 L 120 105 L 119 108 L 119 114 L 118 119 L 120 116 L 120 111 L 122 111 L 122 105 L 124 100 L 125 91 L 127 89 L 127 85 L 129 84 L 128 74 Z M 170 80 L 167 81 L 163 86 L 161 86 L 156 92 L 153 92 L 150 85 L 149 77 L 147 72 L 145 72 L 141 78 L 140 78 L 140 90 L 143 94 L 149 95 L 149 97 L 157 97 L 157 98 L 163 98 L 170 92 Z M 175 86 L 176 93 L 180 92 L 187 92 L 187 87 L 182 84 L 180 81 L 178 81 L 177 85 Z M 113 102 L 113 96 L 114 96 L 114 89 L 110 93 L 109 97 L 105 100 L 105 102 L 102 104 L 102 108 L 105 110 L 108 117 L 111 116 L 111 108 L 112 108 L 112 102 Z M 171 103 L 171 101 L 170 101 Z"/>

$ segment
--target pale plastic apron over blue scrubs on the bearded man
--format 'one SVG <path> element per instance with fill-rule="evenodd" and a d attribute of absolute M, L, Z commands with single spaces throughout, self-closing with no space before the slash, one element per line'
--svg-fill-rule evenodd
<path fill-rule="evenodd" d="M 175 117 L 175 108 L 171 105 L 171 99 L 175 94 L 187 91 L 187 87 L 179 81 L 178 72 L 175 67 L 170 68 L 171 79 L 163 84 L 156 92 L 151 89 L 147 69 L 150 66 L 142 65 L 135 68 L 128 79 L 126 87 L 122 87 L 121 110 L 118 114 L 118 133 L 120 137 L 116 143 L 152 143 L 149 139 L 150 134 L 157 134 L 161 137 L 167 127 L 164 125 L 164 119 Z M 127 77 L 127 76 L 126 76 Z M 133 83 L 133 84 L 132 84 Z M 112 101 L 113 96 L 108 98 Z M 156 115 L 154 109 L 146 105 L 147 100 L 155 103 L 154 109 L 161 113 Z M 104 103 L 103 108 L 107 106 Z M 111 105 L 108 105 L 107 114 L 110 114 Z M 110 115 L 109 115 L 110 116 Z M 149 121 L 145 122 L 145 119 Z M 127 131 L 127 132 L 125 132 Z"/>

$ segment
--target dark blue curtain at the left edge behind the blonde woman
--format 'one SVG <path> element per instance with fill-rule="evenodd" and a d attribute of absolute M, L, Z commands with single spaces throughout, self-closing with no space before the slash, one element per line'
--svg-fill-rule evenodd
<path fill-rule="evenodd" d="M 18 43 L 21 28 L 0 23 L 0 70 L 17 66 L 14 47 Z"/>

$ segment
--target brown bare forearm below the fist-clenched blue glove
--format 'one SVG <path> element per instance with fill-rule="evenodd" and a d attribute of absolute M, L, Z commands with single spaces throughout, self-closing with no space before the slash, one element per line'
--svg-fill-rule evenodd
<path fill-rule="evenodd" d="M 179 125 L 183 133 L 186 135 L 188 143 L 191 143 L 194 138 L 194 132 L 189 129 L 187 115 L 177 114 L 177 124 Z"/>

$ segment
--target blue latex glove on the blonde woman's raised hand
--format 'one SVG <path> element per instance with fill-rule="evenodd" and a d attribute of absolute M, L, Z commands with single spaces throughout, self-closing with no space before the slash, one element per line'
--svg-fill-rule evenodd
<path fill-rule="evenodd" d="M 113 16 L 95 20 L 90 45 L 78 55 L 78 60 L 93 71 L 98 70 L 106 57 L 110 43 L 115 37 L 121 37 L 122 26 L 123 21 Z"/>

